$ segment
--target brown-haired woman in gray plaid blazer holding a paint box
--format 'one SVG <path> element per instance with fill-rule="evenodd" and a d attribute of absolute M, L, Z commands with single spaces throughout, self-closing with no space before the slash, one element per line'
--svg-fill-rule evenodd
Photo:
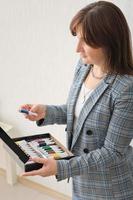
<path fill-rule="evenodd" d="M 81 9 L 70 30 L 77 37 L 77 64 L 67 104 L 23 105 L 39 126 L 67 124 L 70 160 L 34 158 L 40 170 L 24 176 L 72 177 L 73 200 L 133 199 L 133 59 L 130 31 L 121 10 L 99 1 Z"/>

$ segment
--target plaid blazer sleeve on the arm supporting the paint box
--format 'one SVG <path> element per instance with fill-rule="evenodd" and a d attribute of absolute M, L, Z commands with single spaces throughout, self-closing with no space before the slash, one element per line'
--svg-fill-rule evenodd
<path fill-rule="evenodd" d="M 133 82 L 118 94 L 102 148 L 70 160 L 57 161 L 57 180 L 107 169 L 128 154 L 133 138 Z"/>

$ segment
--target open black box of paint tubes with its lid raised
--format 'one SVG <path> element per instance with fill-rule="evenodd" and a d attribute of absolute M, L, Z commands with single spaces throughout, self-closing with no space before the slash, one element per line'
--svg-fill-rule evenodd
<path fill-rule="evenodd" d="M 31 161 L 30 157 L 52 157 L 56 160 L 74 157 L 74 155 L 50 133 L 11 138 L 0 127 L 0 138 L 4 142 L 4 148 L 25 172 L 37 170 L 43 166 L 43 164 Z"/>

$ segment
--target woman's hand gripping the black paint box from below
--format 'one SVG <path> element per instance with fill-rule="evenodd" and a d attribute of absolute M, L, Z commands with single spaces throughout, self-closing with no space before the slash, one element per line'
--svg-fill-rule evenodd
<path fill-rule="evenodd" d="M 38 170 L 33 170 L 30 172 L 25 172 L 22 174 L 22 176 L 52 176 L 52 175 L 56 175 L 57 173 L 57 162 L 55 159 L 50 158 L 31 158 L 31 161 L 34 161 L 36 163 L 42 163 L 43 166 L 42 168 L 38 169 Z"/>

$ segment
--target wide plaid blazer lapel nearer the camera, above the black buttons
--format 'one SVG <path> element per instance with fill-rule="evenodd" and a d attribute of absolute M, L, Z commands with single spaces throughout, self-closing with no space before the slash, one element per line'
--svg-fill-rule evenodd
<path fill-rule="evenodd" d="M 101 95 L 104 93 L 104 91 L 108 88 L 108 86 L 111 83 L 113 84 L 115 77 L 116 77 L 115 75 L 109 76 L 109 77 L 106 77 L 104 80 L 102 80 L 102 82 L 99 84 L 99 86 L 92 92 L 92 94 L 86 101 L 85 105 L 83 106 L 83 109 L 80 112 L 79 118 L 76 122 L 76 129 L 74 131 L 71 149 L 73 148 L 74 144 L 76 143 L 76 141 L 79 137 L 80 131 L 82 129 L 82 126 L 84 124 L 86 117 L 89 115 L 92 108 L 94 107 L 94 105 L 96 104 L 98 99 L 101 97 Z M 75 106 L 74 106 L 74 108 L 75 108 Z"/>

